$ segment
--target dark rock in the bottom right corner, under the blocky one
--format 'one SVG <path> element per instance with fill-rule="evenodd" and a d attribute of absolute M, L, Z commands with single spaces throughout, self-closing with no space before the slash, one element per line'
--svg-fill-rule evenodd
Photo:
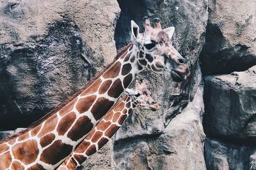
<path fill-rule="evenodd" d="M 205 163 L 212 170 L 240 170 L 255 167 L 255 146 L 223 143 L 214 139 L 205 140 Z"/>

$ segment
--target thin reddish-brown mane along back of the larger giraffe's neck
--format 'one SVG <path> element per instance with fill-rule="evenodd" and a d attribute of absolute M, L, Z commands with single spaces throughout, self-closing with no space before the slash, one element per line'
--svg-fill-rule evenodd
<path fill-rule="evenodd" d="M 72 101 L 73 99 L 75 99 L 77 96 L 79 96 L 79 94 L 81 94 L 81 92 L 83 92 L 85 89 L 87 89 L 90 85 L 92 85 L 92 83 L 97 80 L 97 78 L 99 78 L 110 66 L 113 65 L 114 62 L 116 62 L 116 60 L 118 60 L 120 57 L 122 57 L 123 55 L 125 55 L 125 52 L 128 50 L 128 48 L 130 48 L 132 46 L 132 43 L 129 43 L 128 45 L 122 47 L 118 53 L 116 54 L 116 57 L 114 58 L 113 62 L 111 62 L 110 64 L 108 64 L 108 66 L 104 67 L 104 69 L 102 71 L 100 71 L 100 73 L 96 73 L 95 76 L 93 76 L 88 83 L 86 83 L 86 85 L 78 90 L 77 92 L 75 92 L 72 96 L 68 97 L 65 101 L 61 102 L 60 104 L 58 104 L 55 108 L 53 108 L 50 112 L 46 113 L 44 115 L 44 117 L 40 118 L 39 120 L 37 120 L 36 122 L 33 122 L 31 125 L 29 125 L 29 127 L 27 129 L 24 129 L 23 131 L 18 132 L 17 134 L 14 134 L 13 136 L 3 139 L 0 141 L 0 144 L 6 142 L 6 141 L 10 141 L 12 139 L 17 138 L 18 136 L 25 134 L 26 132 L 30 131 L 31 129 L 33 129 L 34 127 L 36 127 L 39 124 L 42 124 L 42 122 L 44 122 L 47 118 L 51 117 L 52 115 L 54 115 L 54 113 L 56 113 L 57 111 L 61 110 L 61 108 L 63 108 L 64 106 L 66 106 L 68 103 L 70 103 L 70 101 Z"/>

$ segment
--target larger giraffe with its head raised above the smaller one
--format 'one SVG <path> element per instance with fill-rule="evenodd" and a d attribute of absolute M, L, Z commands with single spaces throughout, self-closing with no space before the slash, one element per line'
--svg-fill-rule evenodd
<path fill-rule="evenodd" d="M 0 169 L 54 169 L 86 138 L 136 74 L 148 67 L 156 73 L 171 72 L 175 81 L 189 76 L 186 60 L 173 48 L 173 27 L 162 30 L 159 20 L 145 32 L 131 22 L 132 45 L 79 96 L 53 115 L 0 143 Z"/>

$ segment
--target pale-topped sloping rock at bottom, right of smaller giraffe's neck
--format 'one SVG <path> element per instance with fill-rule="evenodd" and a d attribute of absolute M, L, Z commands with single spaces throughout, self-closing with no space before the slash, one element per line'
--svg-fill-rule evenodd
<path fill-rule="evenodd" d="M 203 88 L 198 88 L 193 101 L 163 132 L 131 138 L 116 134 L 116 169 L 206 169 Z"/>

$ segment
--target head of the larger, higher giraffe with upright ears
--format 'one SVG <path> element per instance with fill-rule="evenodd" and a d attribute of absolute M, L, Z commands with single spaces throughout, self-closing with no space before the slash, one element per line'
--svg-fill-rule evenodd
<path fill-rule="evenodd" d="M 159 18 L 154 19 L 151 27 L 148 17 L 144 17 L 145 32 L 139 33 L 138 25 L 131 21 L 131 40 L 138 50 L 138 64 L 156 73 L 167 71 L 174 81 L 183 81 L 189 76 L 186 59 L 172 46 L 174 27 L 161 28 Z"/>

